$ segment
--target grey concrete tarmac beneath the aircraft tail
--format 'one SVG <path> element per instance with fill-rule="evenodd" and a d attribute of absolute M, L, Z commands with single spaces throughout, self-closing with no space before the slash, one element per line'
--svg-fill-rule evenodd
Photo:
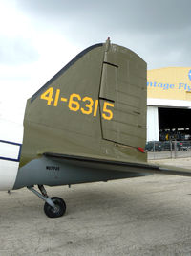
<path fill-rule="evenodd" d="M 191 168 L 191 159 L 173 164 Z M 190 177 L 151 175 L 47 190 L 65 199 L 64 217 L 47 218 L 43 201 L 27 189 L 0 193 L 0 256 L 191 255 Z"/>

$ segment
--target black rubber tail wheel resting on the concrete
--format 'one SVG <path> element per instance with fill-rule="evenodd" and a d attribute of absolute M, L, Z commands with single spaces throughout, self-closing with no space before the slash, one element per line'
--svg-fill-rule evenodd
<path fill-rule="evenodd" d="M 47 202 L 44 205 L 44 212 L 49 218 L 59 218 L 66 212 L 66 203 L 62 198 L 53 197 L 51 198 L 55 207 L 53 208 Z"/>

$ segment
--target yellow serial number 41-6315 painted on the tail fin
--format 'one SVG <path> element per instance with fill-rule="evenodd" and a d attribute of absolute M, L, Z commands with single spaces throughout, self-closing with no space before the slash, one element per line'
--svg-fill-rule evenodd
<path fill-rule="evenodd" d="M 94 101 L 91 97 L 81 97 L 79 94 L 73 93 L 69 99 L 60 96 L 60 89 L 56 89 L 55 96 L 53 99 L 53 87 L 50 87 L 47 91 L 41 94 L 40 99 L 46 100 L 47 105 L 57 106 L 59 101 L 68 103 L 68 108 L 71 111 L 81 111 L 82 114 L 90 115 L 93 114 L 96 117 L 98 110 L 98 100 Z M 83 103 L 83 106 L 81 106 Z M 110 107 L 110 108 L 109 108 Z M 106 120 L 111 120 L 114 116 L 111 107 L 114 107 L 113 103 L 104 101 L 102 111 L 102 117 Z"/>

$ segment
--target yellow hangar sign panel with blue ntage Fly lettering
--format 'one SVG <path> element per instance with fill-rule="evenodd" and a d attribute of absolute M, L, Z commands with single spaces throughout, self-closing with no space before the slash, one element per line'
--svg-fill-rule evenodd
<path fill-rule="evenodd" d="M 148 70 L 147 97 L 191 101 L 191 67 Z"/>

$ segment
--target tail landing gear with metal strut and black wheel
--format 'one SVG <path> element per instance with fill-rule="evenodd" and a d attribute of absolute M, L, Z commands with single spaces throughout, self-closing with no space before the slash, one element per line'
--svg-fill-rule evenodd
<path fill-rule="evenodd" d="M 66 203 L 62 198 L 49 198 L 43 185 L 38 185 L 41 194 L 36 191 L 33 187 L 27 187 L 36 196 L 45 201 L 44 212 L 49 218 L 58 218 L 65 214 Z"/>

